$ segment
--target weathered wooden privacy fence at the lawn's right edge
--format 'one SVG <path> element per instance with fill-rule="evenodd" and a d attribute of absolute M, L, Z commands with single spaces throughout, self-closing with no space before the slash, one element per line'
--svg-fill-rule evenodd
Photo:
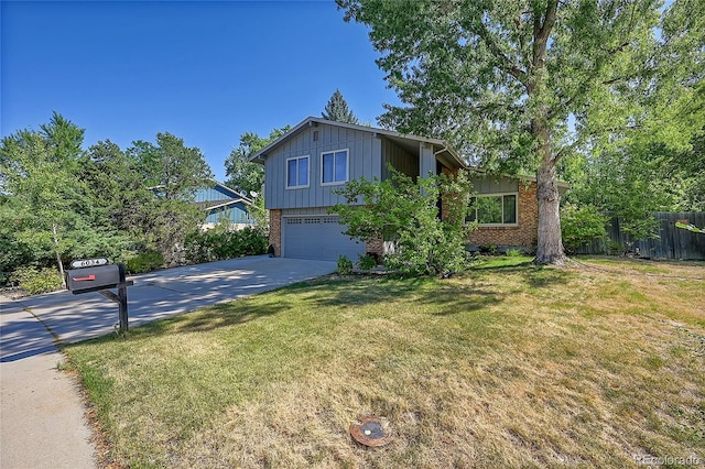
<path fill-rule="evenodd" d="M 705 260 L 705 234 L 676 228 L 675 222 L 686 220 L 687 223 L 705 228 L 703 211 L 659 211 L 653 214 L 661 220 L 659 239 L 637 241 L 631 251 L 641 257 L 653 259 Z M 615 254 L 627 250 L 629 238 L 621 231 L 619 219 L 612 218 L 607 227 L 607 239 L 595 240 L 577 250 L 578 254 Z"/>

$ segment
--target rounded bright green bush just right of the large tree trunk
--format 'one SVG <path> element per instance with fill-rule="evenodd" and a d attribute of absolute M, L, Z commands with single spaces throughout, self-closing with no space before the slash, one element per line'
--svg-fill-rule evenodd
<path fill-rule="evenodd" d="M 593 206 L 576 207 L 567 204 L 561 209 L 561 233 L 567 252 L 575 252 L 582 246 L 607 236 L 607 217 Z"/>

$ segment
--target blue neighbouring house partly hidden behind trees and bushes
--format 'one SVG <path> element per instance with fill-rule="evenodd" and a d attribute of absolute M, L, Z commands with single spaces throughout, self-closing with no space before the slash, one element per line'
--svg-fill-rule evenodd
<path fill-rule="evenodd" d="M 213 228 L 219 220 L 227 219 L 232 228 L 241 229 L 256 223 L 248 211 L 252 200 L 245 193 L 231 189 L 216 181 L 209 187 L 196 192 L 195 201 L 208 212 L 204 228 Z"/>

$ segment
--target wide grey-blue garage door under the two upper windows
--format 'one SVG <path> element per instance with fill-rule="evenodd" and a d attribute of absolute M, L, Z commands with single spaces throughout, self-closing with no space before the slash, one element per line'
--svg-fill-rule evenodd
<path fill-rule="evenodd" d="M 347 255 L 355 262 L 358 254 L 365 254 L 365 243 L 343 234 L 345 228 L 337 217 L 286 217 L 282 221 L 284 258 L 337 261 Z"/>

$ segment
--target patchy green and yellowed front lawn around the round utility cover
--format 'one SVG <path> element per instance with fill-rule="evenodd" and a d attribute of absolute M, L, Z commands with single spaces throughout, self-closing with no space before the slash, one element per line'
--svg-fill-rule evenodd
<path fill-rule="evenodd" d="M 323 279 L 65 351 L 126 467 L 704 463 L 705 265 L 581 262 Z M 388 446 L 350 438 L 371 414 Z"/>

